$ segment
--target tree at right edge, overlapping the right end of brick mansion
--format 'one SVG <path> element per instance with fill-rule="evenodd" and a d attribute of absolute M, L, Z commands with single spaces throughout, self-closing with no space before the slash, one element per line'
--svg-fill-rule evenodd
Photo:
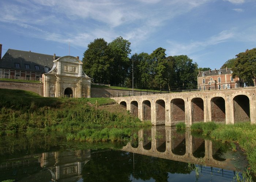
<path fill-rule="evenodd" d="M 232 67 L 233 78 L 238 77 L 240 82 L 256 84 L 256 48 L 240 52 Z"/>

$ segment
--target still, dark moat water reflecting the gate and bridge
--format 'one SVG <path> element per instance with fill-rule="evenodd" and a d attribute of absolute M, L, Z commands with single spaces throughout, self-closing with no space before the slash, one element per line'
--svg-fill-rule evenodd
<path fill-rule="evenodd" d="M 248 164 L 237 146 L 152 127 L 129 143 L 67 142 L 63 134 L 0 139 L 0 181 L 232 181 Z"/>

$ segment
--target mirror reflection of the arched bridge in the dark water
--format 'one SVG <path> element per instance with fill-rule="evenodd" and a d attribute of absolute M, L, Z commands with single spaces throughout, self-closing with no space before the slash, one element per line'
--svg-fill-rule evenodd
<path fill-rule="evenodd" d="M 238 167 L 238 163 L 234 166 L 232 160 L 221 156 L 220 146 L 215 146 L 212 141 L 193 137 L 190 131 L 182 134 L 165 126 L 140 130 L 138 142 L 131 141 L 121 150 L 221 169 L 235 170 Z M 240 157 L 240 160 L 243 159 Z"/>

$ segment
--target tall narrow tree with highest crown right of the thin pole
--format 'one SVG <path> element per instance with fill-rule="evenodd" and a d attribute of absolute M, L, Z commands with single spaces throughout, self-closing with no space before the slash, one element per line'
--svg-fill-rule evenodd
<path fill-rule="evenodd" d="M 153 66 L 154 66 L 154 82 L 157 86 L 160 87 L 160 90 L 166 85 L 167 79 L 166 79 L 166 54 L 165 49 L 162 47 L 157 48 L 155 51 L 151 53 L 151 58 L 153 60 Z"/>

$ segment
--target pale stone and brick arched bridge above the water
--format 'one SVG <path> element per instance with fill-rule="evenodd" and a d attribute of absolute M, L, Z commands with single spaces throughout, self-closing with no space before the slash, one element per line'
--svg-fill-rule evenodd
<path fill-rule="evenodd" d="M 185 122 L 256 123 L 256 89 L 233 88 L 113 98 L 141 120 L 174 126 Z"/>

